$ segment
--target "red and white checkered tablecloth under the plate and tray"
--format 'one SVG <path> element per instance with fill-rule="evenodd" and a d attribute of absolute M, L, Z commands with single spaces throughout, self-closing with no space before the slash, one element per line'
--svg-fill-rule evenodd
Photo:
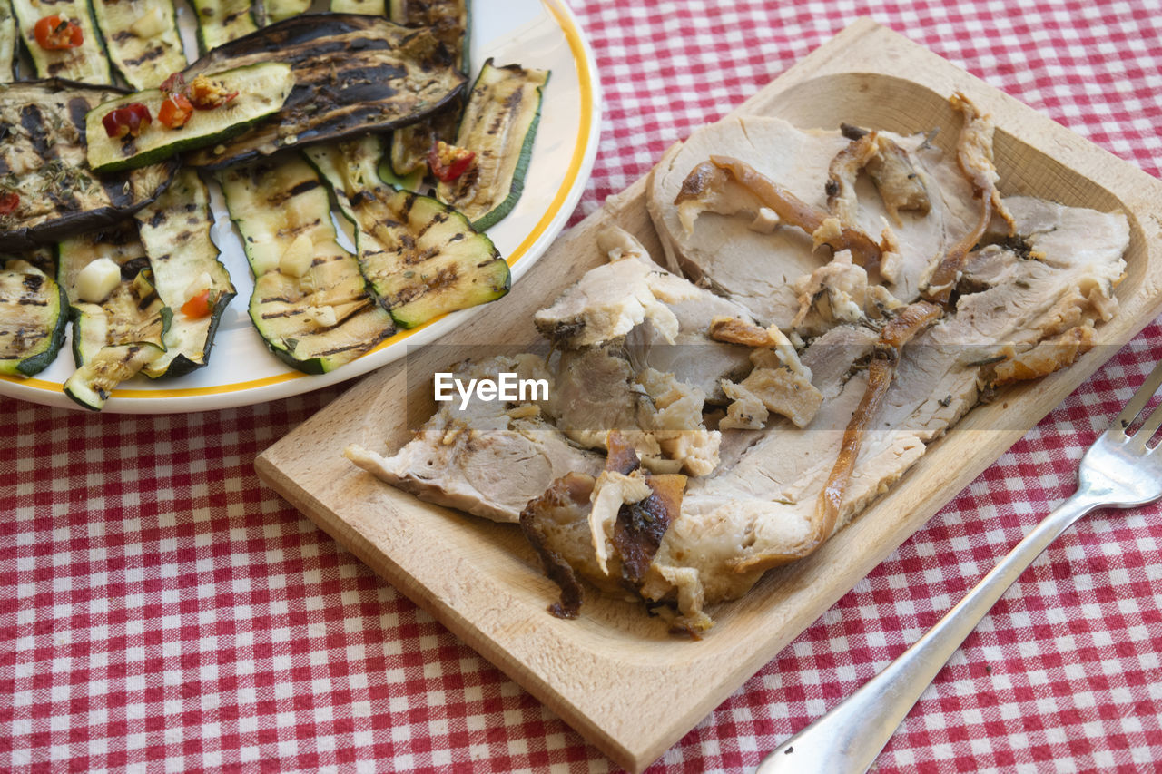
<path fill-rule="evenodd" d="M 573 0 L 604 88 L 574 216 L 869 15 L 1159 175 L 1157 0 Z M 1053 504 L 1162 358 L 1153 323 L 652 772 L 743 771 L 913 642 Z M 259 485 L 342 387 L 93 416 L 0 399 L 0 769 L 607 772 Z M 1162 507 L 1082 522 L 941 672 L 881 771 L 1162 768 Z"/>

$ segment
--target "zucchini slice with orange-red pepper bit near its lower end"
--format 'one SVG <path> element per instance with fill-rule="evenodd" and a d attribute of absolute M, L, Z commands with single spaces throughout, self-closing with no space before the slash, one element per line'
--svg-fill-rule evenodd
<path fill-rule="evenodd" d="M 166 192 L 137 213 L 158 295 L 174 310 L 164 337 L 165 353 L 142 368 L 151 379 L 181 377 L 206 365 L 218 321 L 235 296 L 230 274 L 210 239 L 213 224 L 209 191 L 191 169 L 179 171 Z M 209 314 L 187 314 L 184 307 L 202 291 L 209 291 Z"/>

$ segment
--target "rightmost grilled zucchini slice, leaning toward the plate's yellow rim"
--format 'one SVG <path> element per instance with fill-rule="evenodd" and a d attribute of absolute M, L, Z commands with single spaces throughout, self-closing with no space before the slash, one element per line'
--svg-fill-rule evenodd
<path fill-rule="evenodd" d="M 476 157 L 459 178 L 440 182 L 436 196 L 467 215 L 481 231 L 508 215 L 521 199 L 547 83 L 548 71 L 497 67 L 488 59 L 472 87 L 456 144 Z"/>

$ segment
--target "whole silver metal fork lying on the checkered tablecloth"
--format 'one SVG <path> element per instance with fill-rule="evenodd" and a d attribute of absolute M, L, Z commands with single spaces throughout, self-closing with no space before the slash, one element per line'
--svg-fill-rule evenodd
<path fill-rule="evenodd" d="M 1091 510 L 1133 508 L 1162 497 L 1162 445 L 1147 445 L 1162 424 L 1162 406 L 1127 435 L 1160 385 L 1162 363 L 1086 450 L 1077 471 L 1077 492 L 1041 519 L 914 645 L 768 754 L 756 774 L 866 772 L 937 673 L 1038 554 Z"/>

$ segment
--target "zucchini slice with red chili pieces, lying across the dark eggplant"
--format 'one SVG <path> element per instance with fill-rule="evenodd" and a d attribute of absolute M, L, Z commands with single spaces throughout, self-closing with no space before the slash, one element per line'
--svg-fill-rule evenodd
<path fill-rule="evenodd" d="M 282 62 L 263 62 L 207 77 L 221 84 L 227 92 L 237 92 L 238 95 L 213 110 L 194 110 L 189 123 L 180 129 L 170 129 L 160 121 L 153 121 L 138 137 L 117 139 L 105 131 L 101 126 L 105 116 L 132 102 L 141 102 L 149 108 L 150 115 L 156 116 L 167 96 L 156 88 L 102 102 L 89 110 L 85 116 L 88 165 L 98 172 L 115 172 L 224 142 L 254 122 L 278 113 L 294 86 L 290 65 Z"/>

